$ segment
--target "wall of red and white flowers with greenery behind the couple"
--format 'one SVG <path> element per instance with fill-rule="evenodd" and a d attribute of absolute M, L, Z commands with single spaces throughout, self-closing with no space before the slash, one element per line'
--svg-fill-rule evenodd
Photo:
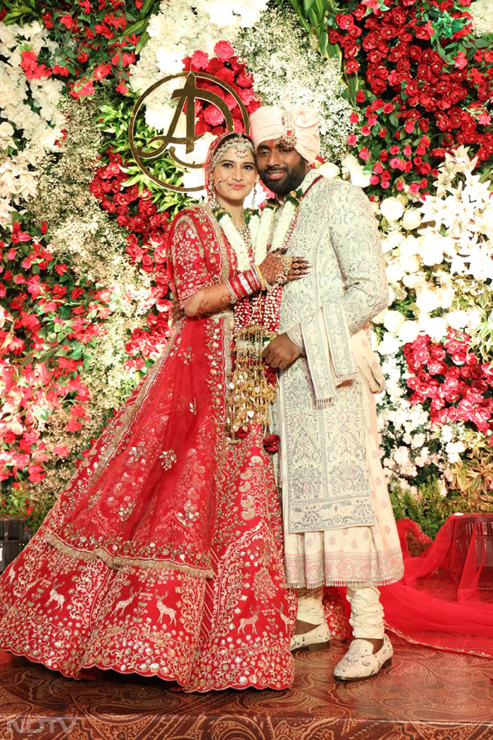
<path fill-rule="evenodd" d="M 374 339 L 395 513 L 435 534 L 452 511 L 492 511 L 492 3 L 2 8 L 0 516 L 41 521 L 166 346 L 166 235 L 191 196 L 140 172 L 128 125 L 140 93 L 183 70 L 216 75 L 249 112 L 287 92 L 316 108 L 316 164 L 364 187 L 387 258 L 391 303 Z M 225 99 L 240 129 L 233 96 L 201 85 Z M 137 143 L 168 129 L 172 89 L 147 98 Z M 190 161 L 201 161 L 225 119 L 205 101 L 195 112 Z M 153 171 L 200 184 L 200 170 L 168 155 Z"/>

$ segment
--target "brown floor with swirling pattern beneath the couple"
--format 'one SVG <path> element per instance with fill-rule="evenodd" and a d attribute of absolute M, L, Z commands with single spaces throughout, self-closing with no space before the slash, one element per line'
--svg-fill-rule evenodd
<path fill-rule="evenodd" d="M 183 695 L 116 673 L 74 682 L 0 653 L 0 740 L 493 739 L 493 661 L 392 642 L 392 667 L 352 684 L 332 678 L 345 645 L 297 653 L 295 685 L 279 693 Z"/>

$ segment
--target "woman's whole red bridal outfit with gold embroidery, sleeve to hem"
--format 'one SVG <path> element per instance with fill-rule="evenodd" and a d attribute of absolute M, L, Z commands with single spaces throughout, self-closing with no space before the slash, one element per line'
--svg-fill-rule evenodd
<path fill-rule="evenodd" d="M 237 267 L 208 206 L 177 217 L 170 247 L 182 301 Z M 258 425 L 225 435 L 233 341 L 231 309 L 180 321 L 1 577 L 0 648 L 73 678 L 291 686 L 296 597 L 271 457 Z"/>

